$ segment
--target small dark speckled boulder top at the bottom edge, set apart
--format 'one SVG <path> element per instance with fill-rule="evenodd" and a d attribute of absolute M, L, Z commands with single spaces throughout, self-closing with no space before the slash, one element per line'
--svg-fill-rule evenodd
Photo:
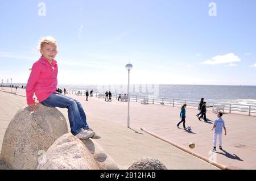
<path fill-rule="evenodd" d="M 167 167 L 158 159 L 142 158 L 135 161 L 128 170 L 167 170 Z"/>

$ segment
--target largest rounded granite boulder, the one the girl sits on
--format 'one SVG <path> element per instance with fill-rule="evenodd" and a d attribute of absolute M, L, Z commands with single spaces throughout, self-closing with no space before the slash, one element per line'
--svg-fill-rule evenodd
<path fill-rule="evenodd" d="M 56 108 L 40 104 L 38 110 L 30 111 L 24 106 L 5 132 L 1 159 L 9 169 L 36 169 L 42 153 L 66 133 L 67 122 Z"/>

